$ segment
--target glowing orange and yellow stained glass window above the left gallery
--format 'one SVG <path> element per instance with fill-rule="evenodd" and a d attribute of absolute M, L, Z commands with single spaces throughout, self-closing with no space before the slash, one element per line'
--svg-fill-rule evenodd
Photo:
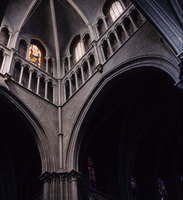
<path fill-rule="evenodd" d="M 41 51 L 36 45 L 30 45 L 27 59 L 37 67 L 41 67 Z"/>

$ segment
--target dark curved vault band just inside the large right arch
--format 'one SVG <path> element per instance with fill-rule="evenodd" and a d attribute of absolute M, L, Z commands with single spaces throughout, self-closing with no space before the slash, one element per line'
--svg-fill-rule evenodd
<path fill-rule="evenodd" d="M 182 98 L 170 76 L 152 67 L 130 70 L 106 84 L 80 128 L 78 159 L 84 193 L 99 199 L 131 200 L 131 159 L 146 120 L 174 104 L 180 108 Z M 96 183 L 90 179 L 89 157 Z"/>

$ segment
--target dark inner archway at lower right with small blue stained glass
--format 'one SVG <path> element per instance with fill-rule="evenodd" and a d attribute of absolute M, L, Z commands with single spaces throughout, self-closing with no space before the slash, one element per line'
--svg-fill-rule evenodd
<path fill-rule="evenodd" d="M 182 109 L 178 103 L 160 112 L 140 134 L 130 164 L 134 198 L 183 198 Z"/>

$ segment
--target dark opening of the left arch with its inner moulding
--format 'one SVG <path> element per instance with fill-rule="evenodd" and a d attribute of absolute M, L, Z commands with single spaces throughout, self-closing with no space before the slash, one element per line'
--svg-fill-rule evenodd
<path fill-rule="evenodd" d="M 51 168 L 43 131 L 30 111 L 3 87 L 0 110 L 0 199 L 42 198 L 40 175 Z"/>

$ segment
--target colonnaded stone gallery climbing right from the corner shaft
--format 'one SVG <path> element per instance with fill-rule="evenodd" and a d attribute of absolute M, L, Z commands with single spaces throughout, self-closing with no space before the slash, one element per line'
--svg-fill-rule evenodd
<path fill-rule="evenodd" d="M 99 19 L 100 20 L 100 19 Z M 98 40 L 93 41 L 92 47 L 73 66 L 70 57 L 67 57 L 68 70 L 64 71 L 62 86 L 64 91 L 63 102 L 66 102 L 88 79 L 100 71 L 100 66 L 113 56 L 125 42 L 144 24 L 144 16 L 130 4 L 122 15 L 110 26 L 104 17 L 106 31 L 100 35 L 96 28 Z M 63 62 L 63 69 L 65 69 Z"/>

